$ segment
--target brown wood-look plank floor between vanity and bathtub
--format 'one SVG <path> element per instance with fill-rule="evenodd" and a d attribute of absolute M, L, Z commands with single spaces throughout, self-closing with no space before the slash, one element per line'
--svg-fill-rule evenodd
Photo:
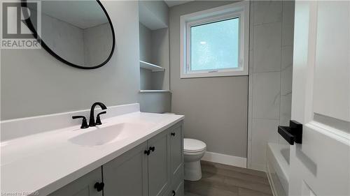
<path fill-rule="evenodd" d="M 265 172 L 202 161 L 202 179 L 185 181 L 185 196 L 272 196 Z"/>

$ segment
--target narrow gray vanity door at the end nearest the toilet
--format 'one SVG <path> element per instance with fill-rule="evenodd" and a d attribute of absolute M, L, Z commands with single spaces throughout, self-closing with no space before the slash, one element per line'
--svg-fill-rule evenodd
<path fill-rule="evenodd" d="M 179 179 L 183 175 L 183 135 L 182 122 L 170 128 L 170 162 L 172 179 Z"/>

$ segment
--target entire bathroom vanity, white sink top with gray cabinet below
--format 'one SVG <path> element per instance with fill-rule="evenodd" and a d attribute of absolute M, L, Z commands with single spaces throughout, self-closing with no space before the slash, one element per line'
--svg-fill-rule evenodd
<path fill-rule="evenodd" d="M 70 121 L 75 125 L 31 135 L 9 131 L 38 121 L 45 121 L 44 130 L 52 121 L 87 112 L 1 122 L 2 192 L 183 195 L 184 116 L 139 112 L 134 104 L 109 107 L 102 126 L 80 129 Z"/>

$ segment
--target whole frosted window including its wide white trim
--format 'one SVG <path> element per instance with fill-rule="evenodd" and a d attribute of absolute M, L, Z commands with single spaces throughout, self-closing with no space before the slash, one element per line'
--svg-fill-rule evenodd
<path fill-rule="evenodd" d="M 248 75 L 248 2 L 181 16 L 181 78 Z"/>

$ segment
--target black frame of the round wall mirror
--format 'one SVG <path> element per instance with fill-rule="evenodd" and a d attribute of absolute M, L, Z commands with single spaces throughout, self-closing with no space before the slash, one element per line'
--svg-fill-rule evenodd
<path fill-rule="evenodd" d="M 55 52 L 53 52 L 50 47 L 48 47 L 48 45 L 45 44 L 45 42 L 38 36 L 38 33 L 36 32 L 33 23 L 31 23 L 30 17 L 29 17 L 29 13 L 27 9 L 22 9 L 23 15 L 25 16 L 26 20 L 25 23 L 27 24 L 27 27 L 31 30 L 31 32 L 33 33 L 34 38 L 36 38 L 36 40 L 38 40 L 38 43 L 41 44 L 41 46 L 48 52 L 50 53 L 52 56 L 54 56 L 56 59 L 58 59 L 59 61 L 66 63 L 69 66 L 72 66 L 74 68 L 80 68 L 80 69 L 85 69 L 85 70 L 91 70 L 91 69 L 96 69 L 99 67 L 104 66 L 109 59 L 111 59 L 113 52 L 114 52 L 114 48 L 116 47 L 116 36 L 114 33 L 114 28 L 113 28 L 113 24 L 111 21 L 111 18 L 109 17 L 109 14 L 107 13 L 106 9 L 104 8 L 104 6 L 102 5 L 102 3 L 99 0 L 96 0 L 97 3 L 99 3 L 99 6 L 101 6 L 102 10 L 104 10 L 104 14 L 106 15 L 107 19 L 109 20 L 109 25 L 111 25 L 111 31 L 112 31 L 112 38 L 113 38 L 113 43 L 112 43 L 112 50 L 111 53 L 109 54 L 109 57 L 106 59 L 106 61 L 104 61 L 103 63 L 97 65 L 97 66 L 92 66 L 92 67 L 84 67 L 84 66 L 78 66 L 74 63 L 71 63 L 69 61 L 66 61 L 65 59 L 63 59 L 61 56 L 59 56 L 58 54 L 56 54 Z M 27 8 L 27 0 L 22 0 L 21 1 L 21 6 L 24 8 Z"/>

